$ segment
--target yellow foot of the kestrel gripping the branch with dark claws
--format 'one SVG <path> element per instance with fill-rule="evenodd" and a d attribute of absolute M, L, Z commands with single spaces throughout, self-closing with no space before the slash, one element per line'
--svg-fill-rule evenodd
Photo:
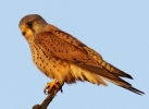
<path fill-rule="evenodd" d="M 54 94 L 61 89 L 62 92 L 62 86 L 59 84 L 57 78 L 54 78 L 52 82 L 47 83 L 46 87 L 44 88 L 45 94 L 50 94 L 51 89 L 54 88 Z"/>

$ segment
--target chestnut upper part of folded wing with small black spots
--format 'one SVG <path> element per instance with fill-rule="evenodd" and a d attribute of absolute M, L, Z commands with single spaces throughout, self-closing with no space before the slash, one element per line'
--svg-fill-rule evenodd
<path fill-rule="evenodd" d="M 61 58 L 71 62 L 80 62 L 98 65 L 98 62 L 76 46 L 59 38 L 51 32 L 40 33 L 35 37 L 35 41 L 40 45 L 48 55 Z"/>

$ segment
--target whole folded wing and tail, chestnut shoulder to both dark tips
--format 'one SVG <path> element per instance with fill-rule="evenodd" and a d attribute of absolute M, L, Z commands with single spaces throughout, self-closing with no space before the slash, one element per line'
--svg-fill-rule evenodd
<path fill-rule="evenodd" d="M 78 44 L 77 41 L 71 43 L 65 38 L 62 38 L 62 36 L 64 36 L 63 34 L 64 33 L 61 33 L 59 37 L 58 33 L 55 34 L 53 32 L 40 33 L 36 35 L 35 41 L 38 43 L 40 48 L 42 48 L 42 50 L 46 51 L 49 56 L 53 56 L 62 60 L 66 60 L 70 63 L 74 63 L 131 92 L 139 95 L 144 94 L 141 90 L 132 87 L 129 83 L 119 77 L 124 76 L 132 78 L 131 75 L 107 63 L 102 60 L 99 53 L 96 51 L 90 52 L 91 49 L 85 45 L 82 45 L 82 43 L 77 47 Z"/>

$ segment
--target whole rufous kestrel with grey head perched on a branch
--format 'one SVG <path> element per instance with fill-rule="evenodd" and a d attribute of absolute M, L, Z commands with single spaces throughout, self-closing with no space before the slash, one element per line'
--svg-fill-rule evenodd
<path fill-rule="evenodd" d="M 64 83 L 80 81 L 108 86 L 109 81 L 135 94 L 145 94 L 123 80 L 133 80 L 129 74 L 104 61 L 100 53 L 71 34 L 48 24 L 39 14 L 25 15 L 18 27 L 29 45 L 34 63 L 52 78 L 45 93 L 52 88 L 58 92 Z"/>

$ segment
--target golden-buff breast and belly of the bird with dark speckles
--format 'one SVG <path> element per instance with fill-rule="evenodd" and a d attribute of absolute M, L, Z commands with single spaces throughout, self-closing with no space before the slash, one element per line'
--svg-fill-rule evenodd
<path fill-rule="evenodd" d="M 32 49 L 33 60 L 42 73 L 45 73 L 50 78 L 59 80 L 60 84 L 63 84 L 64 80 L 67 84 L 75 82 L 71 73 L 70 75 L 67 75 L 67 73 L 70 72 L 70 65 L 67 64 L 67 62 L 62 61 L 59 58 L 46 55 L 41 47 L 39 47 L 35 43 L 30 43 L 29 45 Z"/>

